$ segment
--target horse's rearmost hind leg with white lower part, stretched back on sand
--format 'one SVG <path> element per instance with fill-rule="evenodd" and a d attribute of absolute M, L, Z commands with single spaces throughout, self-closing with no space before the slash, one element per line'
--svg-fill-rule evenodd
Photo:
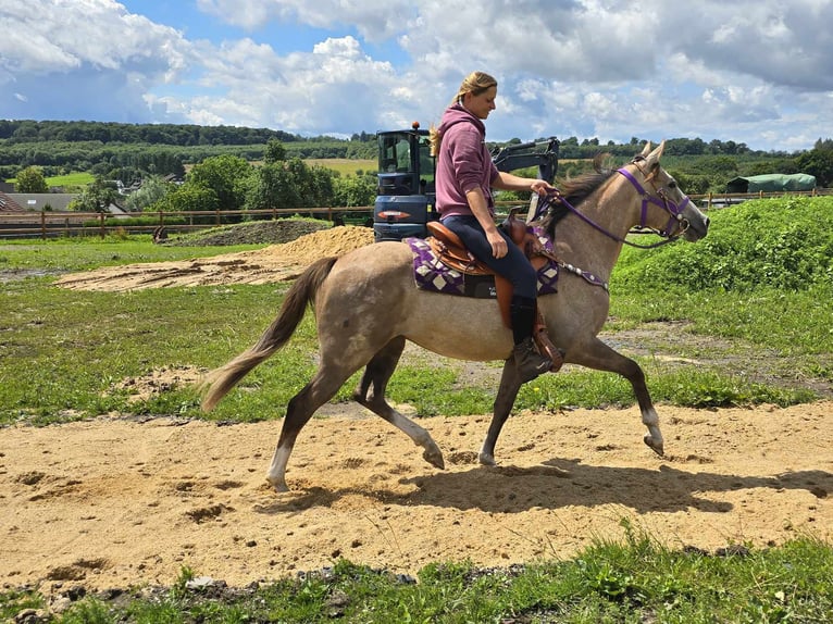
<path fill-rule="evenodd" d="M 288 491 L 286 485 L 286 464 L 293 452 L 295 440 L 312 414 L 321 405 L 332 399 L 338 388 L 347 380 L 353 371 L 339 366 L 326 366 L 322 364 L 315 376 L 303 389 L 295 395 L 286 405 L 286 416 L 281 428 L 281 437 L 277 440 L 272 464 L 266 473 L 266 481 L 272 484 L 276 491 Z"/>

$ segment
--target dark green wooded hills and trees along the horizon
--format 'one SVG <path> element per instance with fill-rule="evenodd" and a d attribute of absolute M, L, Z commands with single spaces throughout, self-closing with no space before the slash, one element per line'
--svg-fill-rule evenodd
<path fill-rule="evenodd" d="M 524 137 L 524 140 L 546 138 Z M 656 137 L 650 139 L 657 140 Z M 645 140 L 632 137 L 627 143 L 618 145 L 612 141 L 601 143 L 598 139 L 580 141 L 576 137 L 559 137 L 558 178 L 587 171 L 592 166 L 590 160 L 599 153 L 608 153 L 620 161 L 630 159 L 641 151 Z M 520 138 L 507 141 L 520 142 L 523 142 Z M 151 177 L 185 178 L 186 170 L 192 172 L 196 165 L 203 163 L 210 165 L 202 167 L 203 171 L 213 171 L 224 164 L 241 176 L 238 182 L 248 180 L 245 185 L 234 183 L 237 185 L 234 201 L 232 194 L 223 197 L 220 192 L 221 197 L 208 201 L 210 205 L 262 205 L 271 203 L 276 195 L 284 197 L 284 201 L 291 196 L 290 207 L 309 201 L 314 201 L 314 205 L 371 203 L 369 200 L 375 192 L 373 171 L 363 172 L 358 179 L 345 179 L 337 173 L 326 174 L 318 171 L 320 167 L 307 166 L 303 163 L 307 159 L 375 160 L 375 133 L 355 133 L 350 137 L 302 137 L 269 128 L 237 126 L 0 120 L 0 179 L 20 180 L 33 167 L 43 177 L 86 172 L 92 174 L 99 185 L 98 189 L 90 189 L 91 195 L 98 197 L 91 200 L 92 204 L 103 201 L 102 192 L 107 189 L 101 180 L 120 180 L 128 187 Z M 259 172 L 243 166 L 246 163 L 274 164 L 275 161 L 293 164 L 283 166 L 283 170 L 271 166 Z M 767 173 L 807 173 L 816 176 L 818 186 L 829 187 L 833 184 L 833 139 L 819 138 L 811 150 L 787 153 L 753 150 L 746 143 L 733 140 L 669 138 L 663 164 L 689 194 L 723 192 L 726 182 L 733 177 Z M 254 179 L 259 182 L 252 182 Z M 303 189 L 304 185 L 315 192 L 297 197 L 298 189 Z M 275 190 L 278 187 L 282 190 Z M 204 188 L 190 185 L 182 190 L 191 194 L 185 202 L 188 205 L 206 205 Z M 185 192 L 181 197 L 184 199 Z"/>

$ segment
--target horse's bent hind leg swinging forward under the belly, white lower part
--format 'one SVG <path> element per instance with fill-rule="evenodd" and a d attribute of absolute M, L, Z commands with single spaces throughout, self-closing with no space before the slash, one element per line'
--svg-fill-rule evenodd
<path fill-rule="evenodd" d="M 438 469 L 445 467 L 443 452 L 437 447 L 434 439 L 427 430 L 419 426 L 409 417 L 397 412 L 385 400 L 385 389 L 390 376 L 394 374 L 399 358 L 405 349 L 405 338 L 397 336 L 380 350 L 364 369 L 359 386 L 353 392 L 353 399 L 371 410 L 374 414 L 382 416 L 388 423 L 400 429 L 414 444 L 421 446 L 424 451 L 423 459 L 431 465 Z"/>

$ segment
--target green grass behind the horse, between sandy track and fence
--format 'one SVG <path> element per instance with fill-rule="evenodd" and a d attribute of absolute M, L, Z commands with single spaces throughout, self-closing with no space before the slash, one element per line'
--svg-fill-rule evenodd
<path fill-rule="evenodd" d="M 761 232 L 772 232 L 773 239 L 783 239 L 773 224 L 783 222 L 784 210 L 792 211 L 790 223 L 803 223 L 807 213 L 816 214 L 813 240 L 826 249 L 824 236 L 831 228 L 818 215 L 833 211 L 821 210 L 812 200 L 803 201 L 807 202 L 805 210 L 800 204 L 785 209 L 778 202 L 748 202 L 763 205 L 749 210 L 747 215 L 754 214 L 757 222 L 764 224 Z M 768 211 L 768 207 L 774 208 Z M 729 211 L 716 213 L 712 234 L 720 242 L 733 227 L 745 232 L 749 219 L 739 219 Z M 764 234 L 759 234 L 758 239 L 762 237 Z M 756 238 L 746 240 L 747 246 L 757 245 Z M 618 330 L 638 328 L 645 323 L 659 326 L 683 323 L 685 336 L 670 334 L 669 345 L 652 348 L 707 362 L 681 367 L 669 365 L 661 358 L 636 355 L 654 399 L 693 407 L 787 405 L 816 399 L 818 395 L 801 380 L 812 378 L 818 384 L 829 384 L 833 378 L 833 313 L 829 305 L 819 304 L 833 300 L 833 286 L 823 278 L 825 273 L 821 271 L 822 278 L 806 280 L 799 289 L 766 283 L 754 288 L 751 283 L 742 282 L 730 289 L 722 279 L 717 285 L 704 283 L 703 273 L 687 286 L 674 284 L 674 279 L 681 278 L 669 267 L 679 266 L 680 258 L 684 258 L 681 254 L 701 245 L 669 246 L 649 255 L 629 251 L 623 253 L 613 276 L 608 325 L 613 337 Z M 285 285 L 117 294 L 64 290 L 52 284 L 54 274 L 64 271 L 181 260 L 253 247 L 257 246 L 154 246 L 148 237 L 0 245 L 0 271 L 34 275 L 5 283 L 0 298 L 2 346 L 10 355 L 0 359 L 0 423 L 18 419 L 54 422 L 127 409 L 147 414 L 240 421 L 279 416 L 314 371 L 318 341 L 310 314 L 279 357 L 256 369 L 244 379 L 241 389 L 232 391 L 210 416 L 198 409 L 198 397 L 188 387 L 130 407 L 126 392 L 114 388 L 124 379 L 147 375 L 154 369 L 171 365 L 211 369 L 224 363 L 253 344 L 271 323 Z M 813 246 L 804 248 L 804 255 L 817 263 L 812 273 L 819 273 L 819 266 L 829 257 L 818 253 Z M 708 264 L 710 251 L 703 249 Z M 739 246 L 736 253 L 742 254 L 745 249 Z M 783 254 L 785 259 L 793 257 L 790 252 Z M 775 260 L 771 265 L 778 266 Z M 37 276 L 43 273 L 47 275 Z M 79 354 L 83 366 L 78 365 Z M 761 371 L 750 383 L 748 366 L 737 374 L 735 366 L 726 364 L 732 359 L 749 365 L 764 363 L 772 371 Z M 467 378 L 464 383 L 461 363 L 443 360 L 442 364 L 436 365 L 434 358 L 406 359 L 390 382 L 389 398 L 413 405 L 421 415 L 492 410 L 497 364 L 494 375 L 474 382 Z M 334 400 L 349 400 L 356 380 L 355 377 L 348 382 Z M 247 388 L 258 391 L 246 391 Z M 633 402 L 633 392 L 624 379 L 571 369 L 525 385 L 515 407 L 558 410 Z"/>

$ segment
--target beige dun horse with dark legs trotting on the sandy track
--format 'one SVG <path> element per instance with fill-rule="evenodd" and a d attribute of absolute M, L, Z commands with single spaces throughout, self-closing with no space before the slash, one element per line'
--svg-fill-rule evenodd
<path fill-rule="evenodd" d="M 595 172 L 568 180 L 551 202 L 561 210 L 550 208 L 536 221 L 565 269 L 558 292 L 538 297 L 551 342 L 565 363 L 618 373 L 631 383 L 648 429 L 644 441 L 659 455 L 663 453 L 662 433 L 643 370 L 597 334 L 608 316 L 607 282 L 623 245 L 635 245 L 626 240 L 633 228 L 659 234 L 662 242 L 696 241 L 708 232 L 708 217 L 660 165 L 663 149 L 664 141 L 652 150 L 646 142 L 642 153 L 621 169 L 596 166 Z M 556 217 L 557 212 L 562 214 Z M 406 241 L 375 242 L 312 263 L 289 288 L 277 316 L 259 340 L 206 375 L 202 409 L 214 408 L 249 371 L 286 345 L 308 307 L 315 314 L 320 364 L 287 403 L 266 473 L 275 491 L 288 491 L 286 466 L 302 427 L 362 366 L 352 399 L 408 435 L 423 448 L 423 459 L 430 464 L 445 467 L 431 434 L 385 399 L 407 340 L 452 359 L 505 360 L 492 422 L 478 453 L 481 464 L 496 464 L 495 445 L 522 385 L 515 373 L 511 330 L 494 299 L 416 288 L 413 253 Z"/>

